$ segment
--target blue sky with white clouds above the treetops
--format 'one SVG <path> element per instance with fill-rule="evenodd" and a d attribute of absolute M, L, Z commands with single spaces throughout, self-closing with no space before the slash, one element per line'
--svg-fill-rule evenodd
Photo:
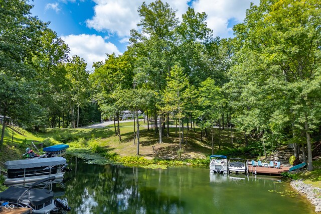
<path fill-rule="evenodd" d="M 106 53 L 121 54 L 126 50 L 130 29 L 139 22 L 140 0 L 34 0 L 32 15 L 56 31 L 70 48 L 92 70 L 92 62 L 102 61 Z M 146 4 L 152 2 L 145 0 Z M 250 2 L 259 0 L 169 0 L 181 17 L 187 8 L 208 15 L 207 23 L 214 36 L 232 37 L 232 27 L 245 18 Z"/>

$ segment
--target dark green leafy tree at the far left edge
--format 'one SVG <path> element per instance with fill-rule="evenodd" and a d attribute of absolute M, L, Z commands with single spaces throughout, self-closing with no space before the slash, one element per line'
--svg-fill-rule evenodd
<path fill-rule="evenodd" d="M 37 74 L 31 62 L 47 24 L 32 17 L 31 8 L 26 1 L 0 2 L 0 114 L 4 116 L 0 145 L 7 117 L 27 124 L 38 108 L 34 101 Z"/>

